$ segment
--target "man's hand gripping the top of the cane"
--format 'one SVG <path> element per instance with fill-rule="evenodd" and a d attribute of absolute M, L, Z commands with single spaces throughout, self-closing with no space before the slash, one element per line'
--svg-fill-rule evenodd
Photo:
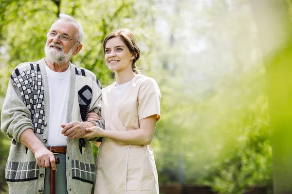
<path fill-rule="evenodd" d="M 35 154 L 35 158 L 37 160 L 37 165 L 39 167 L 44 167 L 44 168 L 51 168 L 52 167 L 53 170 L 57 170 L 55 156 L 54 156 L 53 152 L 48 150 L 48 148 L 46 148 L 46 147 L 37 148 L 34 151 L 34 154 Z"/>

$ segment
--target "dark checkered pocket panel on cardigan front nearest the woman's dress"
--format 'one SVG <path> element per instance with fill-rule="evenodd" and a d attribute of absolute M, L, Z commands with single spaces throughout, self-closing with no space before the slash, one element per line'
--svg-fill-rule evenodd
<path fill-rule="evenodd" d="M 72 178 L 93 184 L 94 164 L 72 160 Z"/>

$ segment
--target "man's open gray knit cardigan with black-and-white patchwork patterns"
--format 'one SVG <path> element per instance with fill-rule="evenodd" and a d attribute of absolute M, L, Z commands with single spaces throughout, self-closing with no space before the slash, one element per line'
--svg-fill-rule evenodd
<path fill-rule="evenodd" d="M 33 129 L 48 146 L 50 95 L 45 61 L 18 65 L 10 76 L 1 113 L 1 130 L 12 139 L 5 169 L 9 194 L 42 194 L 45 168 L 38 167 L 34 154 L 20 143 L 20 135 Z M 87 114 L 101 112 L 101 85 L 89 70 L 70 64 L 71 82 L 68 122 L 85 121 Z M 94 123 L 104 129 L 104 121 Z M 69 194 L 90 194 L 94 181 L 94 159 L 87 139 L 68 139 L 66 154 Z"/>

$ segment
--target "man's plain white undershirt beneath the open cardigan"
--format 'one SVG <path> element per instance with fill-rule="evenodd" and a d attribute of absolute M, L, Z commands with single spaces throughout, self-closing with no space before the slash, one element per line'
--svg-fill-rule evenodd
<path fill-rule="evenodd" d="M 66 146 L 67 137 L 61 134 L 62 124 L 67 123 L 70 91 L 70 67 L 65 72 L 52 71 L 46 65 L 50 90 L 50 122 L 48 146 Z"/>

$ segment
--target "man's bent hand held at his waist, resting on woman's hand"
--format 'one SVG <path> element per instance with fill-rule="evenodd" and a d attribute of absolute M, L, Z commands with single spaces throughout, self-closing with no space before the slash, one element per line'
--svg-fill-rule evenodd
<path fill-rule="evenodd" d="M 61 127 L 63 128 L 61 131 L 62 134 L 70 139 L 76 139 L 81 138 L 87 133 L 86 128 L 88 128 L 89 125 L 86 122 L 73 121 L 63 124 Z"/>

